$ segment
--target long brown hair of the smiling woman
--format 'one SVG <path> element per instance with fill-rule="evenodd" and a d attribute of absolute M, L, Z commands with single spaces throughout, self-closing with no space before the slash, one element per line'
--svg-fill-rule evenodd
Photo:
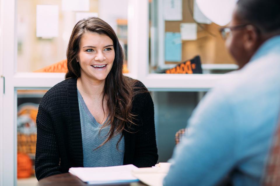
<path fill-rule="evenodd" d="M 68 72 L 66 73 L 65 78 L 78 78 L 81 76 L 81 67 L 76 58 L 79 52 L 81 37 L 86 32 L 94 32 L 107 35 L 111 38 L 111 40 L 113 40 L 113 47 L 115 50 L 115 59 L 113 61 L 113 66 L 105 79 L 104 85 L 103 100 L 104 96 L 107 95 L 107 106 L 110 112 L 110 116 L 107 122 L 102 126 L 102 128 L 109 122 L 111 124 L 108 138 L 103 142 L 103 144 L 105 144 L 113 137 L 114 130 L 116 133 L 122 133 L 123 130 L 132 133 L 132 130 L 130 129 L 132 129 L 132 125 L 136 125 L 133 121 L 136 115 L 131 112 L 132 100 L 135 94 L 139 94 L 140 92 L 147 92 L 147 90 L 136 88 L 136 80 L 127 78 L 122 75 L 124 56 L 122 47 L 118 41 L 118 37 L 115 34 L 113 28 L 98 17 L 89 17 L 88 19 L 82 19 L 74 26 L 67 47 Z M 117 143 L 117 147 L 122 136 Z M 102 146 L 103 144 L 101 144 L 100 146 Z"/>

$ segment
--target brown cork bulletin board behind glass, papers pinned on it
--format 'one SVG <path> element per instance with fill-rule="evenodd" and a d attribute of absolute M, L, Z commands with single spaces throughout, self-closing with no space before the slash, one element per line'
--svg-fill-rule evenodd
<path fill-rule="evenodd" d="M 189 7 L 190 5 L 190 7 Z M 165 21 L 165 32 L 180 33 L 181 23 L 195 23 L 193 19 L 193 0 L 182 0 L 182 20 Z M 196 55 L 201 57 L 202 63 L 232 64 L 234 59 L 228 53 L 225 47 L 225 41 L 220 36 L 217 24 L 197 25 L 197 40 L 181 42 L 182 61 L 189 60 Z M 215 36 L 209 34 L 209 32 Z M 165 64 L 177 64 L 174 61 L 165 61 Z"/>

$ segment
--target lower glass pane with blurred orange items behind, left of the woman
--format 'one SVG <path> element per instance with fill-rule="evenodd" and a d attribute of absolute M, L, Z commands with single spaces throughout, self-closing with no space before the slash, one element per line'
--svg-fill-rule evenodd
<path fill-rule="evenodd" d="M 47 90 L 17 91 L 17 185 L 37 185 L 34 161 L 36 151 L 36 117 Z"/>

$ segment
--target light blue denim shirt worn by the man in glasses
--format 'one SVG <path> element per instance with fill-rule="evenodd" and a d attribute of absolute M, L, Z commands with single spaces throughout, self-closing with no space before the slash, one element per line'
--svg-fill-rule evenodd
<path fill-rule="evenodd" d="M 209 91 L 174 149 L 164 185 L 260 185 L 280 108 L 280 36 Z"/>

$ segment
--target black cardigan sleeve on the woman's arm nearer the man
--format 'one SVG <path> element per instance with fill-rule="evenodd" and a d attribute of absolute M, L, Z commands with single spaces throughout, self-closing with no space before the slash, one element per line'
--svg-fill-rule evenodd
<path fill-rule="evenodd" d="M 157 144 L 155 139 L 154 104 L 149 92 L 139 95 L 141 120 L 139 131 L 136 133 L 135 157 L 136 167 L 151 167 L 157 163 Z"/>

